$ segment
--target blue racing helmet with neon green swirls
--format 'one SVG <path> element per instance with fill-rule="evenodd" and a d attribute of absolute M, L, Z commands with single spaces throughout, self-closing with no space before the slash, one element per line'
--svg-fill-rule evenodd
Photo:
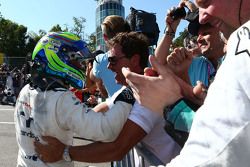
<path fill-rule="evenodd" d="M 82 62 L 94 58 L 86 42 L 69 32 L 52 32 L 37 43 L 32 61 L 36 71 L 49 77 L 62 79 L 71 86 L 82 89 L 85 73 Z"/>

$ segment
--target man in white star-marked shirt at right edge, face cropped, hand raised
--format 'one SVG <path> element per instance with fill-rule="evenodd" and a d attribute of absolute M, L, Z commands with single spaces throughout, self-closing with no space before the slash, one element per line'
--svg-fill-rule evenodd
<path fill-rule="evenodd" d="M 167 166 L 249 166 L 249 2 L 196 0 L 200 10 L 199 22 L 219 28 L 225 37 L 230 38 L 226 58 L 208 90 L 204 105 L 194 118 L 189 138 L 180 155 Z M 151 63 L 159 77 L 140 76 L 126 69 L 123 72 L 133 90 L 138 90 L 134 93 L 140 102 L 159 111 L 159 108 L 163 109 L 182 97 L 181 86 L 176 86 L 176 78 L 166 67 L 154 58 L 151 58 Z M 165 99 L 161 103 L 153 98 L 152 92 L 145 89 L 145 85 L 151 90 L 157 83 L 157 86 L 164 83 L 164 89 L 167 89 L 164 92 L 161 89 L 161 94 L 154 91 L 158 97 Z M 151 98 L 147 100 L 143 97 Z"/>

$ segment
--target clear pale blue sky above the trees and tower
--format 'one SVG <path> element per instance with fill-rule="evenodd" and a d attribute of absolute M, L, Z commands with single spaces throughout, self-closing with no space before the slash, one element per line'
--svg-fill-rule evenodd
<path fill-rule="evenodd" d="M 165 28 L 165 15 L 167 10 L 177 6 L 179 0 L 123 0 L 125 16 L 129 8 L 142 9 L 156 13 L 160 27 L 160 37 Z M 28 31 L 38 33 L 40 29 L 48 31 L 54 25 L 64 27 L 73 25 L 73 17 L 86 18 L 85 33 L 95 31 L 95 9 L 97 2 L 94 0 L 0 0 L 0 12 L 5 19 L 14 21 L 28 27 Z M 187 21 L 181 21 L 179 31 L 187 26 Z"/>

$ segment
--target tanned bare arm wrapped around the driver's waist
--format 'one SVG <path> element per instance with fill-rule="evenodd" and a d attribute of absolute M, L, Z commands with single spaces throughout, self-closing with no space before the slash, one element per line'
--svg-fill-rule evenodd
<path fill-rule="evenodd" d="M 69 151 L 74 161 L 94 163 L 119 161 L 145 136 L 146 132 L 128 119 L 114 142 L 73 146 Z"/>

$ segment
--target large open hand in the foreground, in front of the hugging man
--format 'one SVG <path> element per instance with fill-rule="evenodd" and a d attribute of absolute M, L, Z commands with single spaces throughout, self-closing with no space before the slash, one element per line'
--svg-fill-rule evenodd
<path fill-rule="evenodd" d="M 160 64 L 154 56 L 150 56 L 150 62 L 158 76 L 136 74 L 127 68 L 122 68 L 122 72 L 136 100 L 150 110 L 162 113 L 165 106 L 182 97 L 181 88 L 167 66 Z"/>

